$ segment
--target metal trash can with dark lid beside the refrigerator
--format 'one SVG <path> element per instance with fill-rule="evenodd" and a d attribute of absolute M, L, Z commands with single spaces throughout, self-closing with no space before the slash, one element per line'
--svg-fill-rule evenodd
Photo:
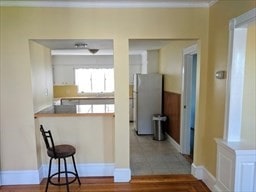
<path fill-rule="evenodd" d="M 166 116 L 161 114 L 153 115 L 153 139 L 157 141 L 165 140 L 165 128 L 164 123 L 166 121 Z"/>

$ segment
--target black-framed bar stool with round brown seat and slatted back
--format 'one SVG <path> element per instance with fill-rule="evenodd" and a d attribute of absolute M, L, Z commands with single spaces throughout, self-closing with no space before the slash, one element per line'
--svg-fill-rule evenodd
<path fill-rule="evenodd" d="M 49 171 L 48 171 L 48 178 L 47 178 L 47 184 L 45 187 L 45 192 L 48 190 L 49 183 L 52 185 L 66 185 L 67 186 L 67 191 L 69 192 L 69 184 L 75 182 L 78 180 L 79 185 L 81 185 L 77 169 L 76 169 L 76 163 L 75 163 L 75 158 L 74 155 L 76 153 L 75 147 L 72 145 L 54 145 L 54 141 L 52 138 L 51 131 L 45 131 L 43 128 L 43 125 L 40 125 L 40 131 L 42 133 L 46 148 L 47 148 L 47 154 L 50 157 L 50 163 L 49 163 Z M 67 161 L 66 158 L 72 157 L 73 161 L 73 166 L 74 166 L 74 172 L 73 171 L 68 171 L 67 170 Z M 51 167 L 52 167 L 52 159 L 58 159 L 58 172 L 51 174 Z M 64 171 L 60 170 L 60 160 L 64 160 Z M 60 175 L 65 174 L 65 182 L 60 182 Z M 74 175 L 75 178 L 69 181 L 68 179 L 68 174 Z M 58 183 L 54 182 L 52 179 L 54 176 L 58 175 Z"/>

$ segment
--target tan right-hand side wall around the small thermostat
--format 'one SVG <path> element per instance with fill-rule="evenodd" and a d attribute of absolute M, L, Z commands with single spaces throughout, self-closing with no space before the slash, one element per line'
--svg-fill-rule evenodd
<path fill-rule="evenodd" d="M 204 138 L 201 142 L 206 168 L 216 175 L 216 143 L 214 138 L 223 138 L 225 118 L 226 80 L 215 78 L 218 70 L 227 70 L 229 21 L 254 8 L 255 1 L 220 0 L 210 8 L 209 60 L 207 81 L 207 115 Z"/>

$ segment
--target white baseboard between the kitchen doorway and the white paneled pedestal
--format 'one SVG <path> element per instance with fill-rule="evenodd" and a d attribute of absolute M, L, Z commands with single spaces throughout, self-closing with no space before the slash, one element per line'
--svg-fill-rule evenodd
<path fill-rule="evenodd" d="M 196 166 L 195 164 L 192 164 L 191 173 L 197 179 L 203 180 L 207 187 L 211 191 L 214 191 L 216 178 L 204 166 Z"/>

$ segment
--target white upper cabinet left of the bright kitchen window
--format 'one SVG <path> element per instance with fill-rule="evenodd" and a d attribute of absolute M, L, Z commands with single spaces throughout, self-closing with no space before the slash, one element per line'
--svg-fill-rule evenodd
<path fill-rule="evenodd" d="M 53 80 L 55 85 L 75 84 L 74 68 L 72 66 L 54 66 Z"/>

